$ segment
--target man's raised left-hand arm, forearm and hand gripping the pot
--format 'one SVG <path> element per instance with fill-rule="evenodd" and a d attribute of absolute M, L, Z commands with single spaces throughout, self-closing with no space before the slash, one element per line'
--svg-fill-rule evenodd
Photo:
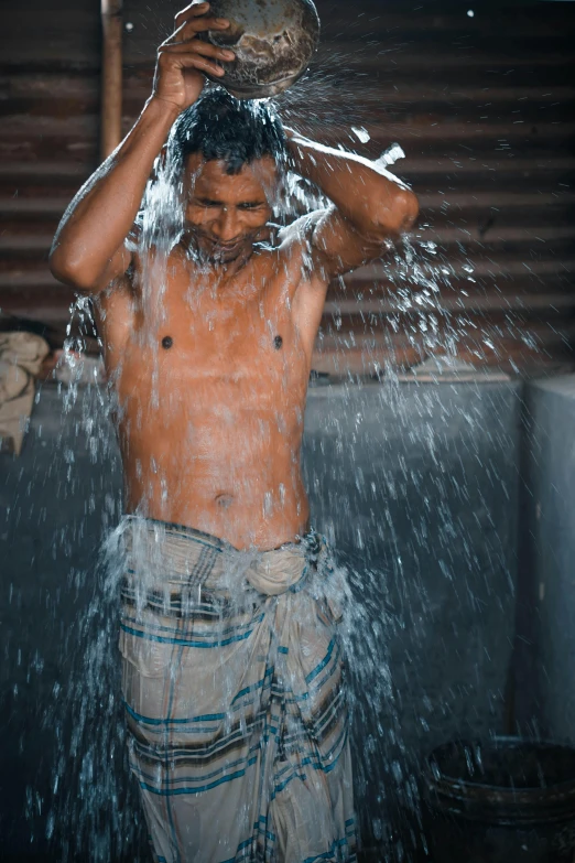
<path fill-rule="evenodd" d="M 223 75 L 216 60 L 234 53 L 197 39 L 205 30 L 229 26 L 208 18 L 209 3 L 193 3 L 176 15 L 174 34 L 158 51 L 152 96 L 130 133 L 80 188 L 54 238 L 51 269 L 61 281 L 97 293 L 126 272 L 124 245 L 145 184 L 178 114 L 198 98 L 204 75 Z"/>

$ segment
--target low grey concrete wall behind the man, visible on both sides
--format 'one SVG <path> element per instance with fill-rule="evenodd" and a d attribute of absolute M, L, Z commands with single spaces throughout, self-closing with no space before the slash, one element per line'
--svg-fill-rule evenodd
<path fill-rule="evenodd" d="M 63 397 L 45 388 L 22 455 L 0 459 L 0 709 L 9 718 L 0 831 L 7 859 L 35 854 L 58 863 L 45 840 L 54 757 L 62 753 L 56 743 L 76 722 L 82 657 L 100 632 L 96 626 L 90 635 L 83 621 L 100 600 L 97 548 L 119 516 L 120 494 L 118 452 L 98 419 L 97 393 L 80 391 L 67 403 L 63 413 Z M 369 841 L 392 841 L 389 823 L 399 835 L 398 812 L 414 808 L 410 774 L 422 754 L 454 735 L 502 730 L 519 389 L 509 382 L 316 387 L 306 423 L 314 520 L 348 565 L 356 598 L 348 638 L 359 657 L 350 662 L 358 805 Z M 101 627 L 108 637 L 105 622 Z M 101 704 L 86 709 L 96 727 Z M 122 776 L 110 746 L 106 738 L 96 777 L 102 770 Z M 79 763 L 65 765 L 70 788 Z M 124 786 L 118 779 L 113 806 L 129 812 L 133 800 Z M 104 832 L 127 829 L 126 821 L 119 830 L 104 820 Z M 90 860 L 133 860 L 127 854 L 138 835 L 126 835 L 116 856 L 111 840 L 100 837 L 108 851 L 90 848 Z"/>

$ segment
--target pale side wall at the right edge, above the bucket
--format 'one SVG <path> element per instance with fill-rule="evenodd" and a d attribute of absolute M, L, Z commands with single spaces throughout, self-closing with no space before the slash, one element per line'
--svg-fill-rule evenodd
<path fill-rule="evenodd" d="M 575 375 L 527 388 L 525 425 L 518 716 L 575 743 Z"/>

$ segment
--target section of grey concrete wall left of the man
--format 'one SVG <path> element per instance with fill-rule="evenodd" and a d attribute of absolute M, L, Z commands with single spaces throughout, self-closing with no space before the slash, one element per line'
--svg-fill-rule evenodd
<path fill-rule="evenodd" d="M 55 794 L 54 774 L 80 721 L 76 691 L 94 643 L 84 624 L 120 494 L 116 444 L 99 417 L 96 393 L 80 390 L 75 400 L 73 390 L 46 387 L 20 457 L 0 456 L 0 855 L 13 863 L 65 860 L 46 830 L 63 790 L 76 790 L 80 758 L 58 768 L 64 781 Z M 95 734 L 107 710 L 93 701 Z M 98 777 L 113 772 L 112 756 L 100 753 Z M 72 819 L 69 811 L 64 831 Z M 94 843 L 85 860 L 98 860 Z"/>

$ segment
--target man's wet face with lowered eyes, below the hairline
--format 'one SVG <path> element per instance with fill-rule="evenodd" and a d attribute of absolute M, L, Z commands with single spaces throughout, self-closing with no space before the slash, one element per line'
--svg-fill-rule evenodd
<path fill-rule="evenodd" d="M 264 157 L 228 174 L 226 162 L 205 162 L 193 153 L 185 169 L 186 228 L 200 257 L 219 265 L 249 257 L 271 216 L 279 185 L 275 161 Z"/>

